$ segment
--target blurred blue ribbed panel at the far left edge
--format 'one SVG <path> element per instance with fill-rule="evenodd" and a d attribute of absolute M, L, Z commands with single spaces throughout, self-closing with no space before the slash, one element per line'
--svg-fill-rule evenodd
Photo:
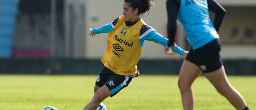
<path fill-rule="evenodd" d="M 0 58 L 11 57 L 18 0 L 0 0 Z"/>

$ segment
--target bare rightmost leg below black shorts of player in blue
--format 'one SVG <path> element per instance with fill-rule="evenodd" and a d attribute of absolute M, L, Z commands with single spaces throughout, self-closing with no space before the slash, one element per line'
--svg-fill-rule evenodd
<path fill-rule="evenodd" d="M 204 75 L 236 109 L 243 110 L 247 107 L 243 96 L 229 83 L 223 65 L 218 70 L 205 73 Z"/>

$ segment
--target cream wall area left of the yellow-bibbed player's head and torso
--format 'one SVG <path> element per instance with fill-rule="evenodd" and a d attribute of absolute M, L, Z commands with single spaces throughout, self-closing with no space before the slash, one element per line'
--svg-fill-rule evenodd
<path fill-rule="evenodd" d="M 86 57 L 101 58 L 104 56 L 107 48 L 107 33 L 97 34 L 95 37 L 89 36 L 89 28 L 98 28 L 108 24 L 118 16 L 122 15 L 121 0 L 87 0 L 87 26 L 86 26 Z M 98 19 L 93 21 L 93 19 Z"/>

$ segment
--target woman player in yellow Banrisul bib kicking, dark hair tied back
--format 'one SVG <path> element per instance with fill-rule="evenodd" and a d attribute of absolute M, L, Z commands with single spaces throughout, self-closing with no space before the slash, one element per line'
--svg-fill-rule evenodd
<path fill-rule="evenodd" d="M 91 36 L 109 33 L 108 49 L 101 60 L 105 67 L 97 77 L 95 94 L 83 110 L 95 110 L 104 99 L 113 97 L 128 86 L 135 76 L 144 40 L 159 43 L 164 47 L 167 45 L 168 39 L 140 18 L 140 15 L 149 11 L 152 3 L 152 0 L 124 0 L 122 16 L 109 24 L 90 29 Z M 175 44 L 174 46 L 175 49 L 172 49 L 185 58 L 188 52 Z M 170 48 L 168 51 L 172 53 Z"/>

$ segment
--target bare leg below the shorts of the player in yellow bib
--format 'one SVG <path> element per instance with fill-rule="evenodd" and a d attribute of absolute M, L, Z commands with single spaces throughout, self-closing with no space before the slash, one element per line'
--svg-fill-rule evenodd
<path fill-rule="evenodd" d="M 92 100 L 83 108 L 83 110 L 96 110 L 100 103 L 111 95 L 106 85 L 102 86 L 93 96 Z"/>

